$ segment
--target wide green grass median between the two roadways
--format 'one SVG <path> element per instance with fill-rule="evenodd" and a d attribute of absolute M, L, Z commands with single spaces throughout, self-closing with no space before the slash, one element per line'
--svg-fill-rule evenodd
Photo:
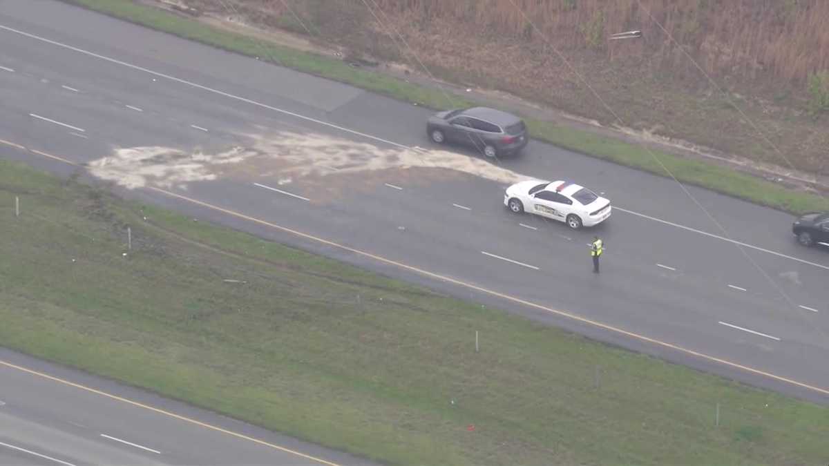
<path fill-rule="evenodd" d="M 825 407 L 30 167 L 0 162 L 0 216 L 2 346 L 319 444 L 401 465 L 826 459 Z"/>

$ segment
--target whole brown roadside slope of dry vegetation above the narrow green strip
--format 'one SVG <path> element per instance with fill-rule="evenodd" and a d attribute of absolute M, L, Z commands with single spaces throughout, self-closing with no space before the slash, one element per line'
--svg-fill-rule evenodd
<path fill-rule="evenodd" d="M 814 108 L 810 75 L 829 70 L 825 0 L 191 3 L 220 12 L 238 8 L 259 25 L 414 70 L 422 62 L 444 79 L 507 90 L 605 123 L 618 123 L 609 106 L 635 129 L 829 172 L 829 118 L 807 112 Z M 641 30 L 642 39 L 607 40 L 631 29 Z"/>

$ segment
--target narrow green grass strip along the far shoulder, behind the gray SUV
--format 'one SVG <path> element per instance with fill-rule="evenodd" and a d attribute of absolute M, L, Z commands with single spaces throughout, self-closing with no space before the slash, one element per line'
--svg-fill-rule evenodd
<path fill-rule="evenodd" d="M 371 70 L 355 68 L 331 57 L 297 51 L 238 33 L 222 31 L 158 8 L 140 5 L 132 0 L 64 1 L 210 46 L 247 56 L 259 56 L 282 66 L 345 82 L 398 100 L 415 102 L 432 109 L 447 107 L 446 95 L 440 90 L 410 84 Z M 458 95 L 453 96 L 453 101 L 458 106 L 475 104 L 472 100 Z M 592 157 L 635 167 L 663 177 L 670 177 L 672 174 L 681 182 L 795 214 L 829 210 L 829 199 L 826 197 L 797 192 L 715 163 L 654 151 L 657 162 L 651 153 L 647 153 L 636 144 L 540 120 L 528 119 L 527 123 L 534 138 Z M 666 168 L 670 173 L 666 172 Z"/>

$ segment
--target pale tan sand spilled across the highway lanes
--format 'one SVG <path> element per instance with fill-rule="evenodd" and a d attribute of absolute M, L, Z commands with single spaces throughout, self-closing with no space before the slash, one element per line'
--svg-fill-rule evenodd
<path fill-rule="evenodd" d="M 186 190 L 192 182 L 228 178 L 274 186 L 291 184 L 303 191 L 325 189 L 329 195 L 374 189 L 384 180 L 424 182 L 471 176 L 510 184 L 530 178 L 499 167 L 497 161 L 462 153 L 380 147 L 321 133 L 242 134 L 240 140 L 245 144 L 214 150 L 115 148 L 88 167 L 95 177 L 128 189 L 155 186 Z M 411 176 L 413 172 L 416 176 Z"/>

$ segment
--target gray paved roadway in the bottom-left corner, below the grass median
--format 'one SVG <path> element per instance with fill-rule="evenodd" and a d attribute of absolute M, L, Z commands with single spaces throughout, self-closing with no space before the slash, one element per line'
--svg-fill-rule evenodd
<path fill-rule="evenodd" d="M 369 464 L 16 352 L 0 350 L 0 362 L 0 464 Z"/>

